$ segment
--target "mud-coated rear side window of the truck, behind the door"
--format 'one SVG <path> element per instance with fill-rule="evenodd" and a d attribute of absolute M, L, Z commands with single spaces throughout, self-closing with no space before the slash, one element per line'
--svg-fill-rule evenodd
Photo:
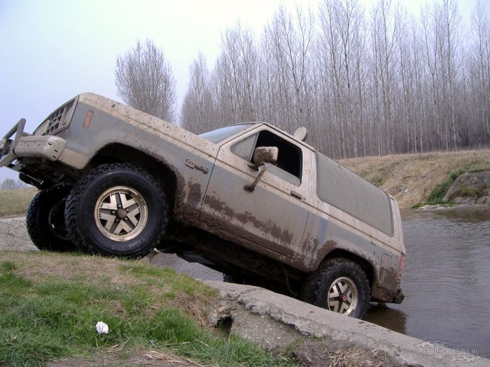
<path fill-rule="evenodd" d="M 393 236 L 388 194 L 336 161 L 316 152 L 318 197 L 375 229 Z"/>

